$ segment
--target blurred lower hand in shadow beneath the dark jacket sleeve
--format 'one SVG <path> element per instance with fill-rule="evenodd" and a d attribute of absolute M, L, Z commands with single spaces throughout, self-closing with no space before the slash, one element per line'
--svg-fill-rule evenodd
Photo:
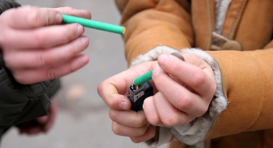
<path fill-rule="evenodd" d="M 57 113 L 57 107 L 54 102 L 52 102 L 49 106 L 48 113 L 49 115 L 47 116 L 39 117 L 18 125 L 20 133 L 34 135 L 40 132 L 46 133 L 47 131 L 49 131 L 55 121 Z"/>

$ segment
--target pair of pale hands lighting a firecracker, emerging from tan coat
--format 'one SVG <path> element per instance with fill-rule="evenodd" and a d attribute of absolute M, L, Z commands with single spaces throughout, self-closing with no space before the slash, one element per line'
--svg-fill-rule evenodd
<path fill-rule="evenodd" d="M 98 93 L 110 108 L 116 135 L 140 143 L 155 135 L 155 126 L 185 125 L 207 111 L 216 92 L 212 68 L 195 54 L 182 56 L 185 61 L 163 54 L 157 61 L 139 64 L 99 84 Z M 128 86 L 149 70 L 153 70 L 149 82 L 154 95 L 145 99 L 143 110 L 130 110 Z"/>

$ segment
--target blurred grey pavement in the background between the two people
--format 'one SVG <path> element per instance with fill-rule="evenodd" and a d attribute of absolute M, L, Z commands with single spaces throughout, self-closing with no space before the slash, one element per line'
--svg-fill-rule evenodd
<path fill-rule="evenodd" d="M 17 0 L 21 5 L 86 9 L 92 20 L 118 25 L 120 14 L 113 0 Z M 90 62 L 82 69 L 64 76 L 62 88 L 55 95 L 58 114 L 46 134 L 26 136 L 13 128 L 3 136 L 1 148 L 145 148 L 130 138 L 111 130 L 109 108 L 97 94 L 103 80 L 127 69 L 122 37 L 116 33 L 85 28 L 90 45 L 84 51 Z M 160 148 L 165 148 L 163 145 Z"/>

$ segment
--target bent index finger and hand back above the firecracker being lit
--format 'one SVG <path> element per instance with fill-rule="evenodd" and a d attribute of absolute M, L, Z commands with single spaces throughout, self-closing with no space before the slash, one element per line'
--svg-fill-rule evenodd
<path fill-rule="evenodd" d="M 158 58 L 161 68 L 175 76 L 201 96 L 211 97 L 216 89 L 214 73 L 210 66 L 195 54 L 184 53 L 184 60 L 164 54 Z"/>

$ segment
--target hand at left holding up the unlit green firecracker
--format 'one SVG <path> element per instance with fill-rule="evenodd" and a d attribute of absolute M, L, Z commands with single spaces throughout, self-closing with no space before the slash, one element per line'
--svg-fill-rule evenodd
<path fill-rule="evenodd" d="M 0 15 L 3 60 L 17 82 L 55 79 L 88 63 L 87 55 L 78 55 L 89 45 L 83 26 L 61 23 L 62 13 L 91 19 L 90 12 L 70 7 L 22 6 Z"/>

